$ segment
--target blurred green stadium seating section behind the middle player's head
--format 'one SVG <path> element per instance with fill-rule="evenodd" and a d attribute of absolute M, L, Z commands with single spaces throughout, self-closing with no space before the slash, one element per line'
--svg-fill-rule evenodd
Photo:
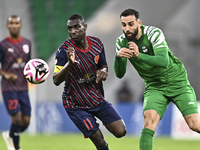
<path fill-rule="evenodd" d="M 47 60 L 66 40 L 67 19 L 74 13 L 87 20 L 106 0 L 30 0 L 37 57 Z"/>

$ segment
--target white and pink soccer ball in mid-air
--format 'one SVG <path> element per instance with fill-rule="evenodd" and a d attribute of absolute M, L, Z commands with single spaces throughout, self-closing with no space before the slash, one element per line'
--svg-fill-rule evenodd
<path fill-rule="evenodd" d="M 24 67 L 24 76 L 26 80 L 33 84 L 44 82 L 50 74 L 48 64 L 39 58 L 29 60 Z"/>

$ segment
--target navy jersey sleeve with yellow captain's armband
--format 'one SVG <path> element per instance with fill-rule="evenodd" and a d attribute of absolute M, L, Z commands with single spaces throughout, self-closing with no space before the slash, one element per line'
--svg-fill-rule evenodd
<path fill-rule="evenodd" d="M 61 46 L 56 51 L 54 73 L 59 72 L 67 63 L 68 58 L 67 58 L 66 50 L 67 50 L 67 47 Z"/>

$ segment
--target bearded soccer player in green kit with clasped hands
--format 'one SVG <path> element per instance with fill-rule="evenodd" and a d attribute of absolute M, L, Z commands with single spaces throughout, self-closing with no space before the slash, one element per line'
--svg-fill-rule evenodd
<path fill-rule="evenodd" d="M 163 32 L 142 25 L 134 9 L 124 10 L 120 19 L 123 34 L 116 41 L 115 74 L 118 78 L 125 75 L 129 59 L 145 82 L 140 150 L 152 150 L 153 135 L 170 102 L 178 107 L 189 128 L 200 133 L 195 92 L 183 63 L 170 51 Z"/>

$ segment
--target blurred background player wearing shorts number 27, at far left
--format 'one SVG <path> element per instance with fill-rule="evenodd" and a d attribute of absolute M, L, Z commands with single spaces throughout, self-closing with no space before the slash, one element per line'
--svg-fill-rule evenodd
<path fill-rule="evenodd" d="M 29 126 L 31 116 L 28 84 L 23 75 L 23 68 L 30 59 L 31 43 L 20 35 L 21 26 L 19 16 L 10 16 L 7 19 L 10 36 L 0 42 L 2 96 L 12 120 L 10 131 L 2 133 L 8 150 L 20 149 L 20 133 Z"/>

